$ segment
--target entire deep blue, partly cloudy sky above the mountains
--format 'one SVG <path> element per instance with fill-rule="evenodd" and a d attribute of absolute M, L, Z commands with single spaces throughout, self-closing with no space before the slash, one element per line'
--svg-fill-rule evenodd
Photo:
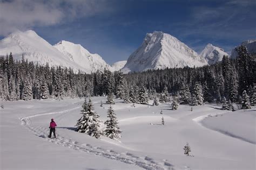
<path fill-rule="evenodd" d="M 2 37 L 32 29 L 50 44 L 81 44 L 110 64 L 127 60 L 147 32 L 169 33 L 198 53 L 208 43 L 231 52 L 256 39 L 256 1 L 250 0 L 0 2 Z"/>

